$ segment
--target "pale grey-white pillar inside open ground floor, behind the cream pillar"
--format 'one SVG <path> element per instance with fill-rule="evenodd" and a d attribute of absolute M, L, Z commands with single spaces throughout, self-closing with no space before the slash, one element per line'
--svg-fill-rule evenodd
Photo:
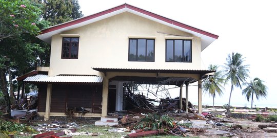
<path fill-rule="evenodd" d="M 118 81 L 116 84 L 116 99 L 115 99 L 115 110 L 122 110 L 123 106 L 123 82 Z"/>

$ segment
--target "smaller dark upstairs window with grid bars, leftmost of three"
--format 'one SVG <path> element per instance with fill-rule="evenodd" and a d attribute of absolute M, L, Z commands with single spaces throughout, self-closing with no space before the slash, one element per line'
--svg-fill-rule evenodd
<path fill-rule="evenodd" d="M 78 59 L 78 49 L 78 37 L 63 37 L 62 58 Z"/>

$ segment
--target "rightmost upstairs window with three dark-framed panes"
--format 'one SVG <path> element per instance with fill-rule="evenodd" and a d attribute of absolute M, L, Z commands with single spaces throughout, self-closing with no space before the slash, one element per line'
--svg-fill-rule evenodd
<path fill-rule="evenodd" d="M 191 61 L 191 40 L 166 40 L 166 62 Z"/>

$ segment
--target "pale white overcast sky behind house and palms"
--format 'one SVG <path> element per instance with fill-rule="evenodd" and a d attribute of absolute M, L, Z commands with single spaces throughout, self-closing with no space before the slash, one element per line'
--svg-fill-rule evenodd
<path fill-rule="evenodd" d="M 277 88 L 275 78 L 276 50 L 276 3 L 275 1 L 88 1 L 79 0 L 81 11 L 85 16 L 101 12 L 124 3 L 159 14 L 183 24 L 219 35 L 202 51 L 202 69 L 209 64 L 223 65 L 227 55 L 237 52 L 245 57 L 249 64 L 250 78 L 262 79 L 268 87 L 266 99 L 254 99 L 253 106 L 277 108 Z M 197 104 L 197 87 L 189 86 L 189 101 Z M 215 105 L 228 103 L 230 85 L 225 85 L 224 95 L 215 98 Z M 245 87 L 243 87 L 245 88 Z M 185 88 L 184 88 L 185 89 Z M 175 89 L 172 95 L 179 95 Z M 203 105 L 211 105 L 212 98 L 203 95 Z M 232 106 L 248 106 L 242 89 L 235 88 L 231 97 Z"/>

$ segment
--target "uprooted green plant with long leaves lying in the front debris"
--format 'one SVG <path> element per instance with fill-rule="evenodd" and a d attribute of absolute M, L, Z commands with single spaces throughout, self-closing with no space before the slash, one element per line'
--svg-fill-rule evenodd
<path fill-rule="evenodd" d="M 145 114 L 145 117 L 138 121 L 134 128 L 135 129 L 145 129 L 145 130 L 157 130 L 166 129 L 168 127 L 173 127 L 174 119 L 168 117 L 167 114 L 160 116 L 159 114 Z"/>

